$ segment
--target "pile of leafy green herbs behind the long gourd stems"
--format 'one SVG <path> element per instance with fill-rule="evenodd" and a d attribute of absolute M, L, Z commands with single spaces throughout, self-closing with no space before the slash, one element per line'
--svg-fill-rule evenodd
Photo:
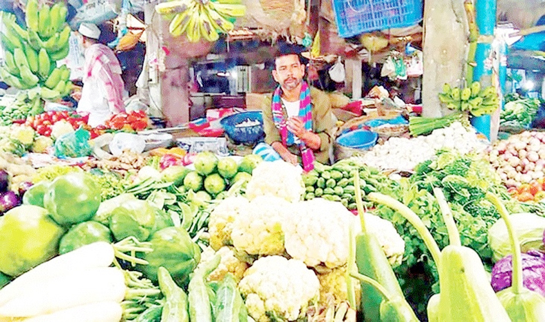
<path fill-rule="evenodd" d="M 488 162 L 478 155 L 460 155 L 449 151 L 440 151 L 434 161 L 418 164 L 414 175 L 408 180 L 403 178 L 392 197 L 411 208 L 429 228 L 440 247 L 448 244 L 445 224 L 440 218 L 439 206 L 431 194 L 434 187 L 445 191 L 447 200 L 461 234 L 461 242 L 476 250 L 484 262 L 491 264 L 491 249 L 487 241 L 490 226 L 498 219 L 495 208 L 484 200 L 487 191 L 501 193 L 509 200 L 513 212 L 521 212 L 520 206 L 511 200 L 505 188 L 498 186 L 500 179 Z M 379 190 L 379 192 L 381 192 Z M 394 223 L 398 233 L 405 239 L 405 257 L 396 267 L 396 274 L 405 290 L 407 300 L 416 306 L 417 312 L 423 312 L 427 298 L 436 289 L 434 283 L 438 273 L 433 262 L 429 261 L 427 247 L 416 237 L 417 231 L 407 224 L 399 213 L 385 206 L 378 206 L 373 211 L 376 215 Z M 420 278 L 414 278 L 415 275 Z M 431 286 L 434 286 L 432 288 Z"/>

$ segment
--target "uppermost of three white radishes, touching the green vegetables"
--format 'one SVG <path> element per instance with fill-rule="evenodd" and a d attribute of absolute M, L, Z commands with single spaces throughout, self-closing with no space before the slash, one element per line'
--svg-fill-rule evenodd
<path fill-rule="evenodd" d="M 14 279 L 0 290 L 0 306 L 32 290 L 37 283 L 64 276 L 75 270 L 108 267 L 114 261 L 114 247 L 105 241 L 85 245 L 69 253 L 53 257 Z"/>

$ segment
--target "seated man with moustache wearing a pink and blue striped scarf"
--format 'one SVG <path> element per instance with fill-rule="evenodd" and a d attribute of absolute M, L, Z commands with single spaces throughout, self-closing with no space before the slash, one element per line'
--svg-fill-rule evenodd
<path fill-rule="evenodd" d="M 265 142 L 286 162 L 308 169 L 314 160 L 329 163 L 334 127 L 328 95 L 303 80 L 305 65 L 295 50 L 279 52 L 273 78 L 279 84 L 264 100 Z"/>

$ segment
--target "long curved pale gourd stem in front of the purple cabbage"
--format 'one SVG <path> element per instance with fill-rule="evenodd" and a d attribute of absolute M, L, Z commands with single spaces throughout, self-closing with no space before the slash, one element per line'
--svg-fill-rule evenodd
<path fill-rule="evenodd" d="M 511 283 L 511 286 L 513 287 L 514 294 L 520 294 L 523 290 L 522 253 L 520 251 L 519 240 L 515 234 L 515 228 L 513 228 L 509 213 L 500 198 L 493 193 L 487 193 L 487 199 L 498 209 L 498 213 L 500 213 L 500 216 L 504 219 L 505 226 L 509 232 L 509 239 L 511 239 L 511 246 L 513 247 L 513 283 Z"/>

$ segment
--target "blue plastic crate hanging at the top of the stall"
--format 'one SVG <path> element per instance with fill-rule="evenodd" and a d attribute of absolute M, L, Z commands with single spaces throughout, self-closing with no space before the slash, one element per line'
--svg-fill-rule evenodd
<path fill-rule="evenodd" d="M 423 0 L 332 0 L 339 36 L 403 28 L 422 20 Z"/>

